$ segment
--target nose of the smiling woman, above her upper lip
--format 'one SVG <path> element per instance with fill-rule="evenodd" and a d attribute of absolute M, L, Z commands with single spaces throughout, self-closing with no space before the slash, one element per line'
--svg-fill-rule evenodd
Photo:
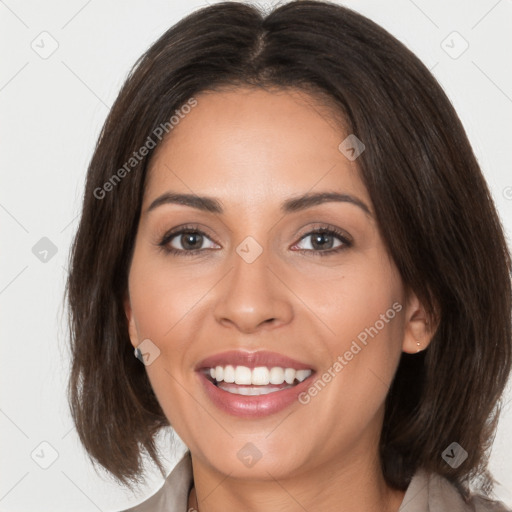
<path fill-rule="evenodd" d="M 290 289 L 272 268 L 267 251 L 252 263 L 234 252 L 233 268 L 219 283 L 214 314 L 224 326 L 235 326 L 244 333 L 285 325 L 293 318 Z"/>

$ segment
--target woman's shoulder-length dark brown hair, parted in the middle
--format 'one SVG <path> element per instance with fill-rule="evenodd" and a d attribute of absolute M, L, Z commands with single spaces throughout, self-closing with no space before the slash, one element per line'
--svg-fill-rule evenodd
<path fill-rule="evenodd" d="M 91 460 L 130 486 L 140 482 L 145 450 L 165 476 L 155 434 L 169 423 L 133 355 L 123 309 L 154 150 L 131 169 L 126 162 L 193 95 L 240 85 L 332 99 L 366 146 L 361 178 L 404 285 L 439 319 L 428 349 L 402 355 L 387 396 L 387 482 L 405 489 L 423 467 L 463 491 L 475 477 L 492 490 L 488 450 L 512 345 L 510 255 L 491 195 L 460 120 L 420 60 L 360 14 L 316 1 L 265 16 L 234 2 L 192 13 L 137 61 L 108 115 L 66 286 L 69 402 Z M 458 468 L 441 457 L 454 441 L 468 453 Z"/>

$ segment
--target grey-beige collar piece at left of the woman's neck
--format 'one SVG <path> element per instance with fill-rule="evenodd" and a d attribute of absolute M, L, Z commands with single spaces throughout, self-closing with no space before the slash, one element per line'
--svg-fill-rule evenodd
<path fill-rule="evenodd" d="M 192 479 L 192 459 L 187 451 L 155 494 L 121 512 L 187 512 Z"/>

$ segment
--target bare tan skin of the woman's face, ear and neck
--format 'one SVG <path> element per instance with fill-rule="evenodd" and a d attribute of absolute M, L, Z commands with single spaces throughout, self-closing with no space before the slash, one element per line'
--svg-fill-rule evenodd
<path fill-rule="evenodd" d="M 125 310 L 132 345 L 149 338 L 160 349 L 146 370 L 191 451 L 199 510 L 396 511 L 404 493 L 386 486 L 378 458 L 384 401 L 401 352 L 426 348 L 431 336 L 380 237 L 357 160 L 338 149 L 348 133 L 296 90 L 196 99 L 151 162 Z M 216 197 L 224 213 L 175 204 L 147 213 L 168 191 Z M 370 214 L 349 202 L 280 211 L 283 201 L 320 191 L 355 196 Z M 164 235 L 185 224 L 206 233 L 195 242 L 202 252 L 163 252 Z M 325 225 L 352 245 L 320 255 L 342 243 L 312 245 L 311 232 Z M 263 250 L 252 263 L 236 252 L 247 236 Z M 185 250 L 186 241 L 177 235 L 167 245 Z M 401 311 L 306 405 L 231 416 L 194 372 L 205 357 L 245 349 L 282 353 L 321 375 L 394 303 Z M 262 454 L 250 468 L 237 457 L 247 442 Z"/>

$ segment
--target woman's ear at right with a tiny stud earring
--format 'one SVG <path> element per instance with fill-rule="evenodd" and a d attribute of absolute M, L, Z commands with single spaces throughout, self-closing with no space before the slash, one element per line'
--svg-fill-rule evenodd
<path fill-rule="evenodd" d="M 416 354 L 425 350 L 437 329 L 437 322 L 427 316 L 423 304 L 415 293 L 410 292 L 405 307 L 405 331 L 402 350 Z"/>

